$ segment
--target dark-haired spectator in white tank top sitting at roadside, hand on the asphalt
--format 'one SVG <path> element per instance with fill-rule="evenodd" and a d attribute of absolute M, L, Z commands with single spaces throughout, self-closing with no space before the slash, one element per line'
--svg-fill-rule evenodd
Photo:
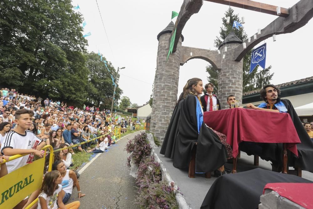
<path fill-rule="evenodd" d="M 58 170 L 61 173 L 62 179 L 62 190 L 65 192 L 65 195 L 62 199 L 62 202 L 65 204 L 67 201 L 69 201 L 69 198 L 72 195 L 73 187 L 76 186 L 78 191 L 78 199 L 80 197 L 85 196 L 85 194 L 82 194 L 80 191 L 80 184 L 76 177 L 76 174 L 72 170 L 66 170 L 65 165 L 62 161 L 56 161 L 54 162 L 52 166 L 52 170 Z"/>

